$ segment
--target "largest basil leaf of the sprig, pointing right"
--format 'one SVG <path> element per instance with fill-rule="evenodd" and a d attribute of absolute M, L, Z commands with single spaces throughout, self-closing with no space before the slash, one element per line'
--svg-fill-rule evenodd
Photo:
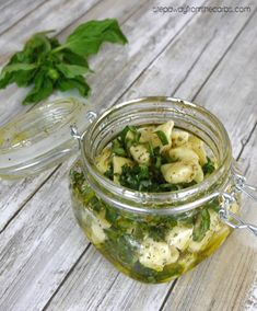
<path fill-rule="evenodd" d="M 96 54 L 104 42 L 127 43 L 127 38 L 122 34 L 117 20 L 107 19 L 84 23 L 68 36 L 66 43 L 60 48 L 68 48 L 78 55 L 87 57 Z"/>

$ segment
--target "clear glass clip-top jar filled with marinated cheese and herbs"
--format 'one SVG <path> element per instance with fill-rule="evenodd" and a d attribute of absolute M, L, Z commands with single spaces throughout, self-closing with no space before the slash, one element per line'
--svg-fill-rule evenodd
<path fill-rule="evenodd" d="M 201 183 L 172 193 L 142 193 L 97 171 L 95 157 L 126 125 L 170 119 L 203 140 L 215 158 L 218 169 Z M 143 283 L 177 278 L 220 247 L 232 228 L 245 226 L 237 217 L 238 180 L 244 181 L 235 174 L 229 136 L 203 107 L 171 97 L 135 100 L 95 117 L 83 135 L 73 127 L 72 135 L 81 148 L 70 171 L 75 218 L 87 239 L 124 274 Z M 248 229 L 256 233 L 254 226 Z"/>

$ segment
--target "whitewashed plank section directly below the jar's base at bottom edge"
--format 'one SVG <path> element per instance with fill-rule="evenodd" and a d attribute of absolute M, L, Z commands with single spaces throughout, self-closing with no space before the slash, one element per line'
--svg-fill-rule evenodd
<path fill-rule="evenodd" d="M 155 311 L 167 290 L 166 284 L 145 285 L 119 274 L 91 245 L 47 310 Z"/>

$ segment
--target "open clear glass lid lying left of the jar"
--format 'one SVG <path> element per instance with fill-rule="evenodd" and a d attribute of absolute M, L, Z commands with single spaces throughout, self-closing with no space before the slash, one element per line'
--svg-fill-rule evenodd
<path fill-rule="evenodd" d="M 78 150 L 70 135 L 85 130 L 92 116 L 77 99 L 46 102 L 0 128 L 0 177 L 25 177 L 61 163 Z"/>

